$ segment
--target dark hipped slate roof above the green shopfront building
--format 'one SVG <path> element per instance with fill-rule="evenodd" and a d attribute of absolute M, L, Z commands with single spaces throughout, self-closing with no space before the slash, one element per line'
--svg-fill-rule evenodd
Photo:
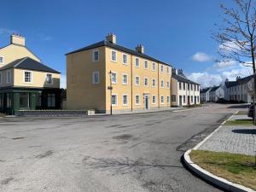
<path fill-rule="evenodd" d="M 35 61 L 30 57 L 24 57 L 24 58 L 12 61 L 3 67 L 0 67 L 0 71 L 9 69 L 9 68 L 20 68 L 20 69 L 27 69 L 32 71 L 59 73 L 55 71 L 55 69 L 47 67 L 43 63 Z"/>

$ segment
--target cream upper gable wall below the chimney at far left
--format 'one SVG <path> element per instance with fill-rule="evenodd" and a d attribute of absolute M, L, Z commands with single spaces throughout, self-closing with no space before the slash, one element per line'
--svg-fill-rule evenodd
<path fill-rule="evenodd" d="M 0 49 L 0 56 L 3 56 L 4 59 L 4 63 L 0 64 L 0 67 L 3 67 L 12 61 L 26 56 L 40 62 L 40 59 L 38 59 L 36 55 L 33 55 L 32 52 L 29 51 L 26 47 L 15 44 L 9 44 L 8 46 Z"/>

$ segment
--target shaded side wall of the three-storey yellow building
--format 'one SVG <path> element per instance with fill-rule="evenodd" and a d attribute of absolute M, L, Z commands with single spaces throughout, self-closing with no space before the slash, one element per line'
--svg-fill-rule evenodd
<path fill-rule="evenodd" d="M 67 109 L 106 110 L 105 48 L 99 61 L 92 61 L 94 49 L 67 55 Z M 99 72 L 100 83 L 92 84 L 92 73 Z"/>

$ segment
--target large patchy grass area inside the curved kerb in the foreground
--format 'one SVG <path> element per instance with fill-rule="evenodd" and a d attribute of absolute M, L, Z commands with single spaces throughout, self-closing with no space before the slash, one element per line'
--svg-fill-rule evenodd
<path fill-rule="evenodd" d="M 191 160 L 208 172 L 256 190 L 255 157 L 203 150 L 192 150 Z"/>

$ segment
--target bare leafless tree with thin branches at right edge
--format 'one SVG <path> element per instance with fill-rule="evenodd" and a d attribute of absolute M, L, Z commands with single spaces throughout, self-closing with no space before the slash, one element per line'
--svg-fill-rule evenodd
<path fill-rule="evenodd" d="M 256 46 L 256 7 L 255 0 L 233 0 L 234 8 L 220 5 L 223 10 L 222 24 L 213 32 L 218 42 L 218 55 L 223 61 L 238 61 L 253 68 L 253 81 L 256 82 L 255 46 Z M 253 84 L 256 96 L 256 84 Z M 254 110 L 255 112 L 255 110 Z M 255 118 L 254 118 L 255 119 Z"/>

